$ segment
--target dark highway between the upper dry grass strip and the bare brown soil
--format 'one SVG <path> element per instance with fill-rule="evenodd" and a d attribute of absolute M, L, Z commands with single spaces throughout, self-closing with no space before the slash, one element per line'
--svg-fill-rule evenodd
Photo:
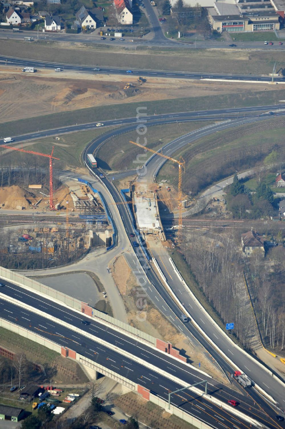
<path fill-rule="evenodd" d="M 61 67 L 64 70 L 71 70 L 73 72 L 80 73 L 93 73 L 94 75 L 108 74 L 108 75 L 126 75 L 126 71 L 129 69 L 126 64 L 125 69 L 118 67 L 104 67 L 100 64 L 96 64 L 96 67 L 100 68 L 100 71 L 94 70 L 95 66 L 87 65 L 76 65 L 76 64 L 66 64 L 66 63 L 51 63 L 46 61 L 39 60 L 27 60 L 21 58 L 6 57 L 0 55 L 0 63 L 3 62 L 7 66 L 18 66 L 18 67 L 35 67 L 35 68 L 46 68 L 46 69 L 55 69 Z M 56 72 L 54 72 L 56 73 Z M 250 81 L 250 82 L 271 82 L 272 77 L 265 75 L 244 75 L 244 74 L 218 74 L 218 73 L 185 73 L 177 71 L 167 71 L 167 70 L 152 70 L 152 69 L 132 69 L 132 76 L 143 76 L 143 77 L 159 77 L 167 79 L 227 79 L 233 81 Z M 284 77 L 274 78 L 275 82 L 285 82 Z"/>

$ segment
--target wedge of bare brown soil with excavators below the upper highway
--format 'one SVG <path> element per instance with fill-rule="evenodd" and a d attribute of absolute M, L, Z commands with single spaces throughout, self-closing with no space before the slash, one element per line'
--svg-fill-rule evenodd
<path fill-rule="evenodd" d="M 185 97 L 261 91 L 264 84 L 189 81 L 148 78 L 138 85 L 136 77 L 38 69 L 22 73 L 18 67 L 0 66 L 0 122 L 48 115 L 53 112 L 120 103 L 169 100 Z M 124 89 L 126 83 L 133 87 Z M 279 88 L 270 87 L 270 91 Z M 17 102 L 15 102 L 17 100 Z M 183 109 L 180 109 L 183 110 Z"/>

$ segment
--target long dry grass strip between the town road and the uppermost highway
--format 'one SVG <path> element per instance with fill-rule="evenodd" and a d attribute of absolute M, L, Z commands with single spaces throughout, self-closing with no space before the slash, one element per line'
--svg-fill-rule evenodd
<path fill-rule="evenodd" d="M 263 36 L 265 37 L 265 36 Z M 267 37 L 267 35 L 266 35 Z M 76 51 L 76 54 L 75 54 Z M 184 72 L 236 73 L 242 70 L 247 74 L 268 74 L 283 67 L 280 53 L 268 51 L 240 51 L 239 49 L 189 49 L 177 46 L 175 49 L 92 45 L 47 41 L 34 41 L 30 44 L 18 40 L 2 40 L 0 54 L 35 60 L 83 64 L 90 66 L 114 66 L 122 69 L 156 69 Z M 110 55 L 111 54 L 111 55 Z M 190 60 L 191 58 L 191 60 Z"/>

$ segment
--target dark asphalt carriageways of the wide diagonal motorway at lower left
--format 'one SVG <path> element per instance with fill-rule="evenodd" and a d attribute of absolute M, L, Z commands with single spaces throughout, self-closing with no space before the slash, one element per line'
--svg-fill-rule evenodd
<path fill-rule="evenodd" d="M 106 327 L 104 323 L 90 319 L 90 325 L 85 326 L 81 323 L 82 320 L 86 320 L 83 314 L 72 311 L 22 287 L 9 282 L 5 283 L 6 286 L 0 290 L 0 293 L 6 296 L 6 299 L 0 296 L 0 314 L 3 319 L 42 335 L 63 347 L 70 347 L 94 362 L 150 389 L 152 393 L 163 399 L 168 399 L 169 390 L 173 391 L 182 387 L 177 381 L 173 381 L 171 375 L 187 384 L 194 384 L 207 379 L 209 383 L 208 394 L 211 396 L 223 402 L 227 402 L 228 399 L 237 400 L 239 411 L 255 418 L 268 428 L 281 429 L 283 427 L 282 424 L 280 426 L 277 423 L 276 413 L 272 408 L 268 407 L 265 402 L 262 403 L 262 407 L 256 403 L 256 399 L 258 402 L 260 400 L 253 388 L 247 390 L 249 395 L 246 395 L 241 389 L 240 393 L 233 391 L 201 375 L 186 364 L 174 360 L 167 353 L 161 353 L 146 344 L 141 344 L 137 339 L 129 338 L 111 327 Z M 18 304 L 11 302 L 10 298 L 16 299 Z M 33 306 L 35 312 L 23 308 L 23 304 Z M 38 314 L 37 308 L 43 311 L 46 316 Z M 50 316 L 56 317 L 59 322 L 51 320 Z M 63 326 L 60 323 L 61 320 L 68 323 L 68 326 Z M 84 332 L 75 332 L 73 327 Z M 110 347 L 96 341 L 96 338 L 93 339 L 91 335 L 108 341 Z M 131 353 L 133 358 L 126 357 L 126 352 Z M 138 359 L 143 360 L 143 363 L 138 363 Z M 150 364 L 168 372 L 169 377 L 160 375 L 154 369 L 148 369 Z M 239 428 L 249 429 L 250 427 L 249 423 L 245 423 L 239 417 L 232 415 L 231 411 L 222 410 L 213 402 L 190 393 L 188 390 L 173 396 L 171 402 L 216 428 L 219 428 L 219 423 L 217 424 L 219 420 L 223 422 L 222 425 L 228 428 L 237 427 L 235 425 L 238 425 Z"/>

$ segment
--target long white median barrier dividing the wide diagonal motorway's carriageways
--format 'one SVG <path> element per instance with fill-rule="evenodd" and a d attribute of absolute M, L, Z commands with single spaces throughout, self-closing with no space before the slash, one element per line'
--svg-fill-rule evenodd
<path fill-rule="evenodd" d="M 33 312 L 35 314 L 39 314 L 39 315 L 41 315 L 43 317 L 46 317 L 46 314 L 43 311 L 38 310 L 36 308 L 33 308 L 30 305 L 28 305 L 28 304 L 23 304 L 23 303 L 21 303 L 20 301 L 18 301 L 15 298 L 8 297 L 8 296 L 4 295 L 3 293 L 0 293 L 0 297 L 2 299 L 4 299 L 5 301 L 12 302 L 12 303 L 14 303 L 16 305 L 21 305 L 21 308 L 25 308 L 28 311 L 31 311 L 31 312 Z M 166 371 L 160 369 L 159 367 L 157 367 L 157 366 L 155 366 L 155 365 L 153 365 L 153 364 L 151 364 L 151 363 L 149 363 L 149 362 L 141 359 L 138 356 L 132 355 L 131 353 L 127 352 L 126 350 L 124 350 L 124 351 L 121 350 L 116 345 L 110 344 L 107 341 L 102 340 L 101 338 L 98 338 L 98 337 L 96 337 L 93 334 L 89 334 L 89 332 L 85 332 L 82 329 L 77 328 L 75 326 L 72 326 L 72 325 L 70 325 L 69 323 L 67 323 L 67 322 L 65 322 L 63 320 L 57 319 L 54 316 L 49 316 L 48 320 L 53 321 L 55 323 L 59 323 L 60 325 L 65 326 L 66 328 L 73 330 L 74 332 L 78 332 L 79 334 L 81 334 L 81 335 L 83 335 L 85 337 L 91 338 L 91 339 L 93 339 L 93 341 L 96 341 L 97 343 L 99 343 L 99 344 L 101 344 L 101 345 L 103 345 L 103 346 L 105 346 L 105 347 L 107 347 L 107 348 L 109 348 L 111 350 L 114 350 L 117 353 L 120 353 L 122 356 L 124 356 L 126 358 L 129 358 L 130 360 L 133 360 L 133 361 L 141 364 L 142 366 L 146 367 L 147 369 L 150 369 L 150 370 L 153 370 L 153 371 L 157 372 L 158 374 L 162 375 L 163 377 L 165 377 L 167 379 L 170 379 L 171 381 L 174 381 L 177 384 L 180 384 L 180 385 L 182 385 L 184 387 L 188 386 L 188 383 L 186 383 L 185 381 L 181 380 L 180 378 L 175 377 L 174 375 L 169 374 L 168 372 L 166 372 Z M 34 334 L 34 335 L 36 335 L 36 334 Z M 63 338 L 65 338 L 65 337 L 63 337 Z M 69 339 L 71 339 L 71 338 L 69 338 Z M 74 340 L 72 340 L 72 341 L 74 341 Z M 74 342 L 76 344 L 80 344 L 78 341 L 74 341 Z M 63 345 L 63 347 L 66 347 L 66 346 Z M 82 357 L 83 357 L 83 359 L 85 359 L 84 356 L 82 356 Z M 263 427 L 263 425 L 261 425 L 261 423 L 259 423 L 258 421 L 252 419 L 251 417 L 247 416 L 246 414 L 241 413 L 240 411 L 232 409 L 231 407 L 229 407 L 229 405 L 227 405 L 227 404 L 219 401 L 216 398 L 213 398 L 210 395 L 205 395 L 203 393 L 203 391 L 200 390 L 200 389 L 198 389 L 196 387 L 190 387 L 189 390 L 192 390 L 194 393 L 196 393 L 199 396 L 203 396 L 205 399 L 209 400 L 210 402 L 213 402 L 214 404 L 218 405 L 219 407 L 224 408 L 225 410 L 231 411 L 232 414 L 236 414 L 238 417 L 242 418 L 243 420 L 245 420 L 245 421 L 247 421 L 247 422 L 249 422 L 251 424 L 254 424 L 255 426 Z"/>

